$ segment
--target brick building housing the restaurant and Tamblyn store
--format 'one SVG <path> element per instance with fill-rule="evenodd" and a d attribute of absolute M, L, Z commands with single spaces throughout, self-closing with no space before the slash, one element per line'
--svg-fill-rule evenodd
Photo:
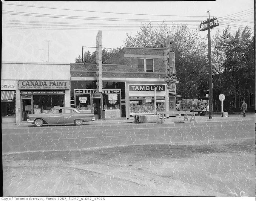
<path fill-rule="evenodd" d="M 172 59 L 175 73 L 174 53 Z M 121 49 L 102 64 L 102 93 L 96 90 L 96 64 L 71 63 L 70 74 L 71 106 L 94 110 L 98 118 L 154 114 L 155 103 L 156 111 L 176 110 L 175 87 L 165 82 L 167 49 Z"/>

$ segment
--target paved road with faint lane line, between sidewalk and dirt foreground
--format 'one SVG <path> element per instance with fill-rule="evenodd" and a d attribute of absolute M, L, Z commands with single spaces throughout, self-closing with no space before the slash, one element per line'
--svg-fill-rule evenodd
<path fill-rule="evenodd" d="M 2 129 L 3 153 L 77 150 L 96 147 L 175 144 L 248 139 L 255 137 L 253 120 L 209 123 L 170 123 L 82 126 L 45 125 Z"/>

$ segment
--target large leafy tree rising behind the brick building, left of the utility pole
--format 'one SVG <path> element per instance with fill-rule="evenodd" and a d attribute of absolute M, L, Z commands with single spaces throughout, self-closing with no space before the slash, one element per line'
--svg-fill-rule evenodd
<path fill-rule="evenodd" d="M 177 94 L 182 98 L 200 98 L 205 88 L 202 83 L 207 79 L 207 44 L 200 41 L 197 32 L 186 25 L 174 25 L 168 29 L 164 22 L 158 26 L 148 23 L 142 24 L 134 37 L 126 34 L 124 43 L 129 47 L 165 48 L 167 35 L 174 39 L 176 77 L 179 80 Z"/>

